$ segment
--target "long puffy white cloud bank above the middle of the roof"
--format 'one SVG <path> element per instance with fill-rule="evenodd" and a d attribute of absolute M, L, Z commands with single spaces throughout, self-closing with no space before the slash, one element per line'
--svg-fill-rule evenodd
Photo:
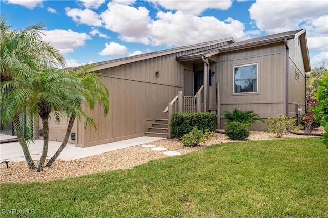
<path fill-rule="evenodd" d="M 156 20 L 151 20 L 144 7 L 110 2 L 101 18 L 105 28 L 120 34 L 119 39 L 144 45 L 183 46 L 220 38 L 234 37 L 236 41 L 247 38 L 243 32 L 245 27 L 238 20 L 220 21 L 215 17 L 198 17 L 182 11 L 159 11 Z"/>

